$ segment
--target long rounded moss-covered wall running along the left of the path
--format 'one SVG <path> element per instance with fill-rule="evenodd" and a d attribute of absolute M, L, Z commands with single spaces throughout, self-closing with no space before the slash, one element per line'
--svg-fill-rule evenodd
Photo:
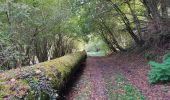
<path fill-rule="evenodd" d="M 34 66 L 0 73 L 0 99 L 55 99 L 85 59 L 86 52 L 77 52 Z"/>

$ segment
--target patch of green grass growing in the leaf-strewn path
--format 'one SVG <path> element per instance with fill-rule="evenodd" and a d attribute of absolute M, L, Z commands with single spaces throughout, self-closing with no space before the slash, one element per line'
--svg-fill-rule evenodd
<path fill-rule="evenodd" d="M 138 89 L 131 85 L 122 75 L 115 74 L 113 85 L 110 77 L 105 77 L 108 100 L 145 100 Z"/>

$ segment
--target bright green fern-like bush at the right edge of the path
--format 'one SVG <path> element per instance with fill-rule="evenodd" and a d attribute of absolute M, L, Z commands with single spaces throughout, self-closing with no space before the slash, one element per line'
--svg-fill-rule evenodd
<path fill-rule="evenodd" d="M 150 61 L 149 65 L 151 66 L 148 74 L 150 83 L 170 81 L 170 52 L 164 55 L 162 63 Z"/>

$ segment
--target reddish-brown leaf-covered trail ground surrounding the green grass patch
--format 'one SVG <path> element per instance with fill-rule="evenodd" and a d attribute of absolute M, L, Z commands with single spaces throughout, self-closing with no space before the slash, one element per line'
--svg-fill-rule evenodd
<path fill-rule="evenodd" d="M 123 100 L 112 97 L 114 90 L 107 88 L 108 84 L 115 85 L 115 75 L 113 72 L 121 74 L 130 84 L 144 95 L 148 100 L 170 100 L 169 85 L 150 85 L 147 81 L 149 67 L 140 57 L 128 58 L 117 57 L 88 57 L 86 67 L 80 74 L 75 75 L 76 82 L 69 93 L 65 95 L 66 100 Z M 108 83 L 106 78 L 110 79 Z M 166 88 L 169 90 L 162 90 Z M 140 100 L 140 99 L 127 99 Z"/>

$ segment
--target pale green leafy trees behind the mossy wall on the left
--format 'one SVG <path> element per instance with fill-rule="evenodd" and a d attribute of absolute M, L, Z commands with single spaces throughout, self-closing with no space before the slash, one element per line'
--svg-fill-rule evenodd
<path fill-rule="evenodd" d="M 27 66 L 35 58 L 42 62 L 77 50 L 82 37 L 71 2 L 0 1 L 0 67 Z"/>

